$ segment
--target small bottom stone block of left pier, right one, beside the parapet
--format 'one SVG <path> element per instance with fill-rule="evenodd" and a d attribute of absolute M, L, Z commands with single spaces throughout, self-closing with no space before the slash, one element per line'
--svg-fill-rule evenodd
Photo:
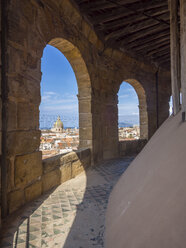
<path fill-rule="evenodd" d="M 25 201 L 30 202 L 42 194 L 42 182 L 37 181 L 25 189 Z"/>

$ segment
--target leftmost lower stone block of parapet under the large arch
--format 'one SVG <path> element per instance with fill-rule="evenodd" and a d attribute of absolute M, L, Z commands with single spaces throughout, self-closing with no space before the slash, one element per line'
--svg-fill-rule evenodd
<path fill-rule="evenodd" d="M 60 184 L 61 172 L 60 169 L 55 169 L 42 176 L 43 193 Z"/>

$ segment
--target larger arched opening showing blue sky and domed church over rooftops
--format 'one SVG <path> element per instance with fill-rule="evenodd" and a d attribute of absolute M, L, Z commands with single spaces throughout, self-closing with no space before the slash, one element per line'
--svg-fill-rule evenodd
<path fill-rule="evenodd" d="M 78 149 L 79 117 L 77 82 L 66 57 L 47 45 L 41 61 L 40 150 L 44 159 Z"/>

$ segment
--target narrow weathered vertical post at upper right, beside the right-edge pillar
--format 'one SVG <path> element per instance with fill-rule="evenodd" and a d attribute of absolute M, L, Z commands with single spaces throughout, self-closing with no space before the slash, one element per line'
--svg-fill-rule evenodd
<path fill-rule="evenodd" d="M 171 47 L 171 86 L 173 114 L 180 110 L 180 41 L 178 23 L 179 0 L 169 0 L 170 9 L 170 47 Z"/>

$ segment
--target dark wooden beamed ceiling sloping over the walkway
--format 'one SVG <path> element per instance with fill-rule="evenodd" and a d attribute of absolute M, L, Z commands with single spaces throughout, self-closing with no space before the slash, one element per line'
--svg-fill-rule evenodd
<path fill-rule="evenodd" d="M 170 67 L 167 0 L 73 0 L 106 47 Z"/>

